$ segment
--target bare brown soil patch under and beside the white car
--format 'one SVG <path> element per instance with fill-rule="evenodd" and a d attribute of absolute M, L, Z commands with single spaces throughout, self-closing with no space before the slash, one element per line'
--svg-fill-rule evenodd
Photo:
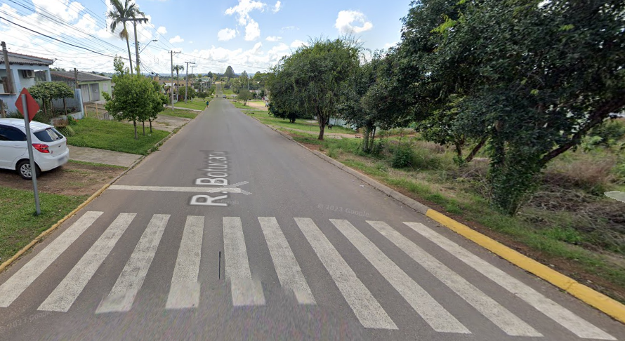
<path fill-rule="evenodd" d="M 124 168 L 68 162 L 41 173 L 37 178 L 39 192 L 64 195 L 91 195 L 124 172 Z M 32 190 L 32 182 L 23 180 L 11 170 L 0 170 L 0 186 Z"/>

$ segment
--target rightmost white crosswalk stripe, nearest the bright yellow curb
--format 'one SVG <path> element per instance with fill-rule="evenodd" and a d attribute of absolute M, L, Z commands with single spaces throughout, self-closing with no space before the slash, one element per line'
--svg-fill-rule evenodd
<path fill-rule="evenodd" d="M 585 339 L 617 340 L 612 337 L 612 335 L 605 333 L 603 330 L 588 323 L 588 321 L 581 319 L 564 307 L 549 300 L 525 283 L 506 274 L 506 272 L 482 260 L 482 258 L 473 255 L 473 253 L 468 252 L 468 250 L 438 234 L 438 232 L 434 232 L 433 229 L 426 227 L 426 225 L 419 224 L 418 222 L 404 222 L 404 224 L 427 239 L 430 239 L 430 241 L 433 241 L 433 243 L 436 243 L 441 248 L 447 250 L 447 252 L 454 255 L 469 267 L 473 267 L 473 269 L 480 272 L 480 274 L 487 276 L 489 279 L 499 284 L 499 286 L 513 293 L 513 295 L 520 297 L 529 305 L 538 309 L 546 316 L 549 316 L 555 322 L 560 323 L 561 326 L 567 328 L 575 335 Z"/>

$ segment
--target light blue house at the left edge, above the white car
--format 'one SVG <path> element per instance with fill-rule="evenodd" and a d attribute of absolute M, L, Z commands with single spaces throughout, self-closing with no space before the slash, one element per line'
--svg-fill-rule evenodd
<path fill-rule="evenodd" d="M 0 100 L 4 102 L 8 112 L 17 110 L 15 101 L 22 88 L 30 88 L 42 81 L 51 81 L 50 65 L 54 60 L 22 55 L 20 53 L 8 53 L 8 66 L 11 69 L 11 77 L 6 73 L 4 55 L 0 53 Z M 36 72 L 40 71 L 40 72 Z"/>

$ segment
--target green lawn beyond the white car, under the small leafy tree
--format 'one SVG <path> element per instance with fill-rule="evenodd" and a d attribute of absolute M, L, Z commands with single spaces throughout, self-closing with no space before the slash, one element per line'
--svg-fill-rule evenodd
<path fill-rule="evenodd" d="M 76 135 L 67 137 L 70 145 L 143 155 L 147 155 L 157 142 L 169 135 L 169 132 L 156 129 L 147 135 L 150 130 L 146 127 L 146 135 L 143 136 L 140 123 L 137 123 L 139 138 L 135 140 L 132 124 L 89 118 L 77 121 L 72 128 Z"/>

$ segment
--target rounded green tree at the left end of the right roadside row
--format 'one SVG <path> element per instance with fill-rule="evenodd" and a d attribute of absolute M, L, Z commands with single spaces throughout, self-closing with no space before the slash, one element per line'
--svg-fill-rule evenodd
<path fill-rule="evenodd" d="M 323 140 L 329 118 L 336 112 L 336 94 L 357 69 L 361 49 L 350 39 L 317 39 L 301 46 L 274 67 L 272 101 L 279 103 L 280 111 L 316 116 L 318 138 Z"/>

